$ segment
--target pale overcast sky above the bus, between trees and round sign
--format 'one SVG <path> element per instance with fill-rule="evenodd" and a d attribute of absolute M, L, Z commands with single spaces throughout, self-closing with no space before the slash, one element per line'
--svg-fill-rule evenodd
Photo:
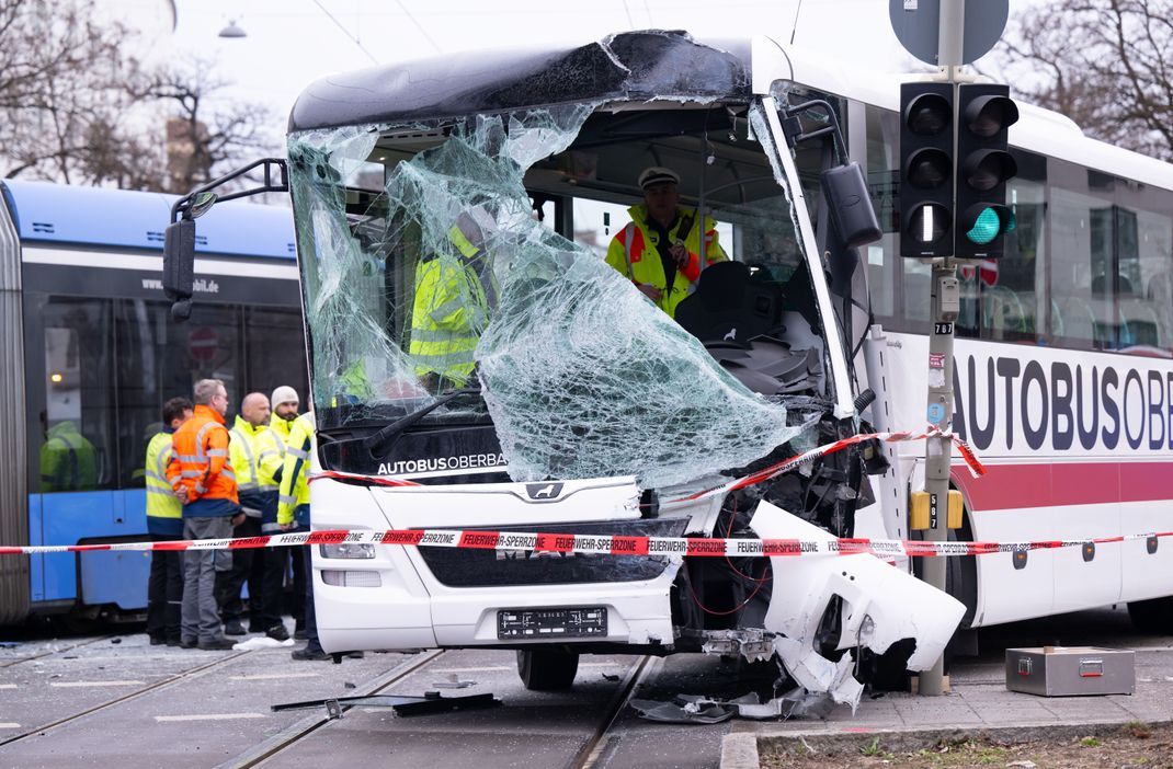
<path fill-rule="evenodd" d="M 861 66 L 901 72 L 916 63 L 891 32 L 888 0 L 801 0 L 801 8 L 799 0 L 177 0 L 177 7 L 174 36 L 154 55 L 211 59 L 236 81 L 235 97 L 273 109 L 278 130 L 301 89 L 331 73 L 476 48 L 582 43 L 625 29 L 781 41 L 793 33 L 798 45 L 838 50 Z M 217 36 L 232 20 L 246 38 Z"/>

